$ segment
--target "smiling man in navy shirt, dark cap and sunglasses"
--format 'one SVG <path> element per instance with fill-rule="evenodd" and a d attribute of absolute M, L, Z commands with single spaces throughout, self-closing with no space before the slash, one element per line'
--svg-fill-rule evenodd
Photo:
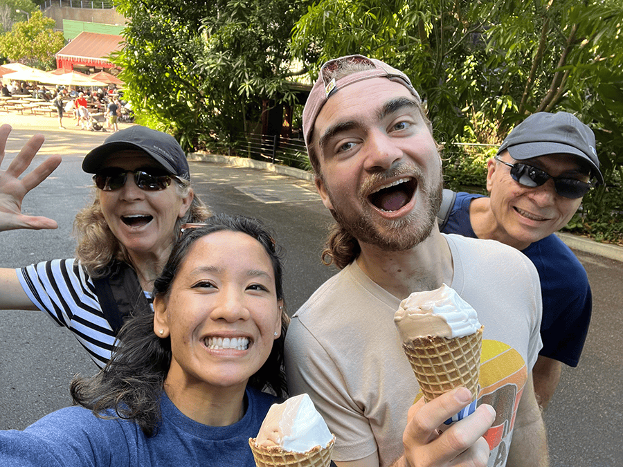
<path fill-rule="evenodd" d="M 593 306 L 584 267 L 554 232 L 566 226 L 595 181 L 604 178 L 593 131 L 567 112 L 534 113 L 487 162 L 489 196 L 459 192 L 443 229 L 517 248 L 539 271 L 543 349 L 532 376 L 542 408 L 562 365 L 577 367 Z"/>

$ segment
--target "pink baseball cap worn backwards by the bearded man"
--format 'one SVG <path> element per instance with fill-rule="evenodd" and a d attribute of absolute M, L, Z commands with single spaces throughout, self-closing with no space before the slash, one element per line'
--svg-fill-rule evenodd
<path fill-rule="evenodd" d="M 330 78 L 330 73 L 341 68 L 344 64 L 362 64 L 369 68 L 341 77 L 338 80 Z M 320 110 L 327 100 L 349 84 L 369 80 L 374 77 L 386 77 L 388 80 L 402 84 L 413 94 L 417 102 L 422 102 L 417 91 L 413 89 L 409 78 L 396 68 L 392 68 L 388 64 L 381 62 L 381 60 L 364 57 L 363 55 L 348 55 L 347 57 L 329 60 L 320 67 L 318 80 L 316 80 L 314 87 L 311 88 L 307 102 L 305 102 L 305 108 L 303 109 L 303 136 L 305 137 L 305 146 L 307 147 L 308 154 L 309 145 L 311 143 L 311 131 L 314 129 L 314 123 L 316 122 L 316 118 L 318 118 L 318 113 L 320 113 Z"/>

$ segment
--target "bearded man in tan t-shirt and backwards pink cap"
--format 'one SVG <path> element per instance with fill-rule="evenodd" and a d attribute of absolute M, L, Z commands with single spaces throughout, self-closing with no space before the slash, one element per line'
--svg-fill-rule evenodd
<path fill-rule="evenodd" d="M 294 313 L 286 372 L 290 393 L 307 392 L 336 435 L 336 465 L 547 466 L 532 384 L 539 276 L 514 248 L 440 233 L 441 158 L 408 77 L 362 55 L 329 60 L 303 131 L 336 219 L 323 259 L 341 271 Z M 444 283 L 484 325 L 478 408 L 465 418 L 464 387 L 413 405 L 417 380 L 394 324 L 401 300 Z M 451 417 L 460 421 L 440 434 Z"/>

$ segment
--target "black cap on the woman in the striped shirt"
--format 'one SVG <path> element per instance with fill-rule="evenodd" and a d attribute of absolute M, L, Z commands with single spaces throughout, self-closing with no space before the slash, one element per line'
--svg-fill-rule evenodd
<path fill-rule="evenodd" d="M 141 125 L 117 131 L 84 156 L 82 170 L 96 174 L 108 156 L 123 149 L 144 151 L 162 165 L 170 174 L 190 181 L 190 168 L 186 154 L 173 136 Z"/>

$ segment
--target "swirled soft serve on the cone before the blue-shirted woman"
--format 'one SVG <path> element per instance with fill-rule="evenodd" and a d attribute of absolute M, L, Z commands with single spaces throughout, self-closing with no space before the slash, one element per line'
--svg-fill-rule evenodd
<path fill-rule="evenodd" d="M 279 446 L 284 451 L 307 452 L 316 446 L 325 448 L 334 436 L 307 394 L 273 404 L 262 422 L 257 446 Z"/>

